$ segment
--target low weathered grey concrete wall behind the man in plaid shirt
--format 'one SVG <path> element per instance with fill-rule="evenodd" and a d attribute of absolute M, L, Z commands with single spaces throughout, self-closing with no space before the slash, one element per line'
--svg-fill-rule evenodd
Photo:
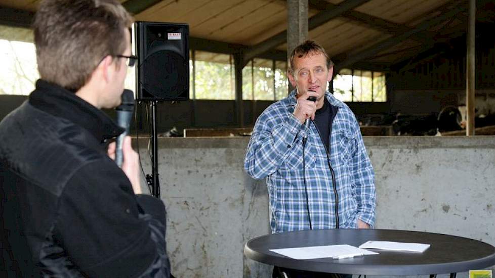
<path fill-rule="evenodd" d="M 242 169 L 248 140 L 159 140 L 168 252 L 177 277 L 270 277 L 270 266 L 242 253 L 247 240 L 269 233 L 265 181 Z M 377 228 L 495 245 L 495 137 L 365 137 L 364 142 L 376 170 Z M 150 173 L 147 141 L 139 145 Z"/>

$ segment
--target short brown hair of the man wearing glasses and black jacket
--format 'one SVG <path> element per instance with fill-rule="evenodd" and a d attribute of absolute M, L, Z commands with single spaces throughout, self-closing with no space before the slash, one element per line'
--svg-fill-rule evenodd
<path fill-rule="evenodd" d="M 76 91 L 107 55 L 126 50 L 132 17 L 116 0 L 46 0 L 34 17 L 39 75 Z"/>

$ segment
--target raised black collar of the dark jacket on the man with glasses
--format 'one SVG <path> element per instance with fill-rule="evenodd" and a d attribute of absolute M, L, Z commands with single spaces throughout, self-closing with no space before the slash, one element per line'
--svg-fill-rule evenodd
<path fill-rule="evenodd" d="M 124 131 L 107 114 L 77 97 L 74 92 L 45 80 L 36 81 L 36 89 L 29 96 L 29 103 L 88 129 L 100 142 Z"/>

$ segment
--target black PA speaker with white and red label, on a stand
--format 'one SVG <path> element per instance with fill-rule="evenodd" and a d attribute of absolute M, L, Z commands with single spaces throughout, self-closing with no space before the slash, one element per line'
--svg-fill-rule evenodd
<path fill-rule="evenodd" d="M 189 99 L 189 25 L 136 22 L 137 99 Z"/>

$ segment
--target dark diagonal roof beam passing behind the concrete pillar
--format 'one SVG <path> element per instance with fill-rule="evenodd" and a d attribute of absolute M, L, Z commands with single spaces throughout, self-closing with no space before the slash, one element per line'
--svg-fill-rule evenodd
<path fill-rule="evenodd" d="M 314 29 L 336 17 L 339 17 L 346 11 L 359 7 L 368 1 L 369 0 L 345 0 L 339 5 L 335 5 L 335 7 L 331 9 L 319 12 L 318 14 L 309 18 L 308 30 Z M 250 47 L 244 52 L 244 64 L 249 62 L 254 57 L 278 47 L 278 45 L 286 42 L 286 40 L 287 30 L 280 32 L 258 44 L 253 45 L 253 47 Z"/>

